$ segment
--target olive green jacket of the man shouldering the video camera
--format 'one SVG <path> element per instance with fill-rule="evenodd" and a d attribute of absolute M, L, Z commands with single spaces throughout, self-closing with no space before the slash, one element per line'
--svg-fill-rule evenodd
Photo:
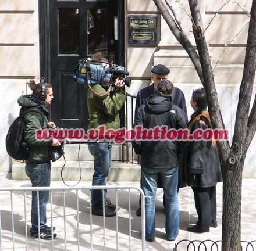
<path fill-rule="evenodd" d="M 99 95 L 104 95 L 106 90 L 101 85 L 96 84 L 92 89 Z M 119 110 L 126 101 L 125 89 L 115 91 L 111 87 L 111 92 L 105 98 L 99 98 L 88 89 L 87 106 L 89 110 L 90 124 L 88 130 L 105 125 L 106 129 L 117 130 L 120 127 Z"/>

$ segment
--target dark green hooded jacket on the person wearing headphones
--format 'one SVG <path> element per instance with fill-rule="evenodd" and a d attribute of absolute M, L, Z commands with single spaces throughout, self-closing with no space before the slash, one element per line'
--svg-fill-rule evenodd
<path fill-rule="evenodd" d="M 20 96 L 18 103 L 20 106 L 24 107 L 24 109 L 30 107 L 39 107 L 41 112 L 44 114 L 43 118 L 42 114 L 40 113 L 29 112 L 24 117 L 24 121 L 26 123 L 25 140 L 29 146 L 30 152 L 29 158 L 26 160 L 26 162 L 42 163 L 51 160 L 50 153 L 52 148 L 52 137 L 44 140 L 37 139 L 36 137 L 37 130 L 49 128 L 47 119 L 49 116 L 49 110 L 47 103 L 30 96 Z"/>

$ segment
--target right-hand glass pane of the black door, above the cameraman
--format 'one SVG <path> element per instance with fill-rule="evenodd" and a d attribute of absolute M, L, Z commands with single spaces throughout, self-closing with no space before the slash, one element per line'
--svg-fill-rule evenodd
<path fill-rule="evenodd" d="M 108 12 L 106 9 L 87 10 L 88 54 L 108 55 Z"/>

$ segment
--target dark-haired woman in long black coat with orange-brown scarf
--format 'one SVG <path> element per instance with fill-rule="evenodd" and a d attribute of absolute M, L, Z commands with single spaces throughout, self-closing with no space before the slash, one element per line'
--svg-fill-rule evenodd
<path fill-rule="evenodd" d="M 207 95 L 204 88 L 192 93 L 191 106 L 194 113 L 187 124 L 190 134 L 195 130 L 212 130 L 211 118 L 207 111 Z M 194 192 L 197 224 L 188 227 L 190 232 L 209 232 L 217 227 L 216 221 L 216 184 L 222 181 L 221 163 L 214 138 L 210 141 L 188 141 L 184 151 L 184 168 L 187 185 Z"/>

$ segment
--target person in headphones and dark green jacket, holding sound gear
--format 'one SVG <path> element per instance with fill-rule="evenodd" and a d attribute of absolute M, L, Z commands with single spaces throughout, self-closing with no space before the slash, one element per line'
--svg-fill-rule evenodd
<path fill-rule="evenodd" d="M 30 178 L 33 187 L 49 187 L 51 182 L 52 146 L 59 146 L 61 143 L 53 137 L 39 140 L 35 135 L 37 130 L 56 127 L 54 122 L 48 122 L 49 105 L 51 105 L 52 99 L 54 98 L 52 85 L 45 83 L 45 87 L 41 87 L 41 83 L 36 84 L 34 80 L 30 80 L 27 84 L 32 90 L 32 94 L 20 96 L 18 103 L 23 109 L 37 107 L 42 114 L 29 112 L 24 116 L 26 124 L 25 140 L 29 146 L 29 157 L 26 160 L 26 174 Z M 30 234 L 32 238 L 38 238 L 39 229 L 41 239 L 51 239 L 52 231 L 55 230 L 55 227 L 48 227 L 46 225 L 46 205 L 49 199 L 49 191 L 39 191 L 38 196 L 40 223 L 38 223 L 37 191 L 32 191 Z M 56 236 L 53 233 L 54 239 Z"/>

